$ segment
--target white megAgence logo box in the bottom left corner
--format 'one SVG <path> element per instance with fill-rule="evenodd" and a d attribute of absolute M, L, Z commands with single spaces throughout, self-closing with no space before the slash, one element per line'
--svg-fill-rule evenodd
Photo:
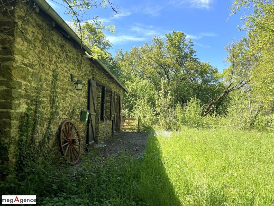
<path fill-rule="evenodd" d="M 2 195 L 2 205 L 36 205 L 36 195 Z"/>

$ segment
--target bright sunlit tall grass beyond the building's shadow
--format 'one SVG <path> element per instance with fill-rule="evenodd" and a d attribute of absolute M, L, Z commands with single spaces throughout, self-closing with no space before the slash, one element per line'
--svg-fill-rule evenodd
<path fill-rule="evenodd" d="M 185 128 L 156 138 L 182 205 L 274 204 L 270 133 Z"/>

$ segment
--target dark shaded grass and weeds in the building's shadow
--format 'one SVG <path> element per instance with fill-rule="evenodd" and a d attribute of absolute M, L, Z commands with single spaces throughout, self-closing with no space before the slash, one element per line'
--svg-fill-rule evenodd
<path fill-rule="evenodd" d="M 101 158 L 98 165 L 41 166 L 27 182 L 14 182 L 21 195 L 35 194 L 38 205 L 181 205 L 167 176 L 157 138 L 150 135 L 142 158 Z M 37 172 L 41 170 L 41 172 Z M 13 194 L 9 188 L 8 194 Z M 16 193 L 17 194 L 17 193 Z"/>

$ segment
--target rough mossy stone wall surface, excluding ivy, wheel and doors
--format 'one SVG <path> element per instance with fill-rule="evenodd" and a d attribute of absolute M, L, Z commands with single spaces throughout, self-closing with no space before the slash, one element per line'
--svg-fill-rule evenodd
<path fill-rule="evenodd" d="M 57 133 L 65 119 L 76 124 L 82 145 L 85 144 L 87 123 L 80 122 L 80 113 L 88 107 L 88 80 L 95 77 L 119 94 L 122 94 L 122 89 L 105 76 L 102 68 L 91 59 L 81 57 L 79 45 L 64 32 L 58 31 L 58 25 L 47 14 L 41 10 L 35 13 L 23 3 L 17 3 L 11 13 L 16 23 L 5 11 L 0 11 L 1 28 L 9 31 L 8 34 L 0 33 L 4 37 L 0 40 L 1 142 L 9 145 L 8 158 L 14 162 L 22 115 L 28 106 L 34 111 L 36 100 L 39 99 L 41 109 L 37 114 L 34 144 L 43 140 L 50 129 L 53 135 L 49 137 L 48 146 L 52 157 L 59 157 Z M 18 24 L 16 29 L 15 24 Z M 3 39 L 8 39 L 8 42 Z M 70 74 L 74 75 L 73 82 Z M 81 91 L 75 90 L 74 82 L 77 79 L 85 84 Z M 100 86 L 97 88 L 99 102 Z M 100 105 L 97 108 L 100 115 Z M 111 121 L 98 118 L 96 142 L 100 143 L 111 136 Z"/>

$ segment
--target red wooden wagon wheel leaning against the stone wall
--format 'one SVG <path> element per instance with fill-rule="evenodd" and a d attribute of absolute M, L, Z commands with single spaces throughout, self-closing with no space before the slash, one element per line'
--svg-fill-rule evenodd
<path fill-rule="evenodd" d="M 69 119 L 62 122 L 59 130 L 61 154 L 71 165 L 80 159 L 81 137 L 75 124 Z"/>

